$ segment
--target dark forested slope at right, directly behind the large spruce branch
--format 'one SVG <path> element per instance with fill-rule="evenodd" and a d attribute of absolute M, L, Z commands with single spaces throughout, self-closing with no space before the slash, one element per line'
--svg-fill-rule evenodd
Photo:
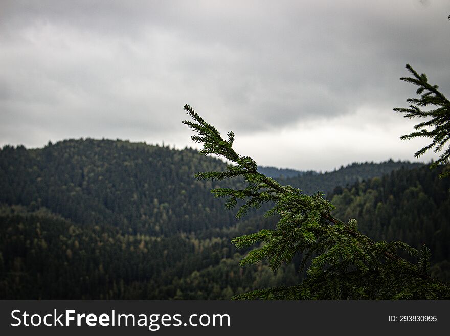
<path fill-rule="evenodd" d="M 447 167 L 448 170 L 448 167 Z M 450 281 L 450 179 L 443 168 L 400 169 L 329 195 L 334 215 L 355 218 L 361 231 L 375 240 L 402 240 L 432 251 L 434 276 Z"/>

